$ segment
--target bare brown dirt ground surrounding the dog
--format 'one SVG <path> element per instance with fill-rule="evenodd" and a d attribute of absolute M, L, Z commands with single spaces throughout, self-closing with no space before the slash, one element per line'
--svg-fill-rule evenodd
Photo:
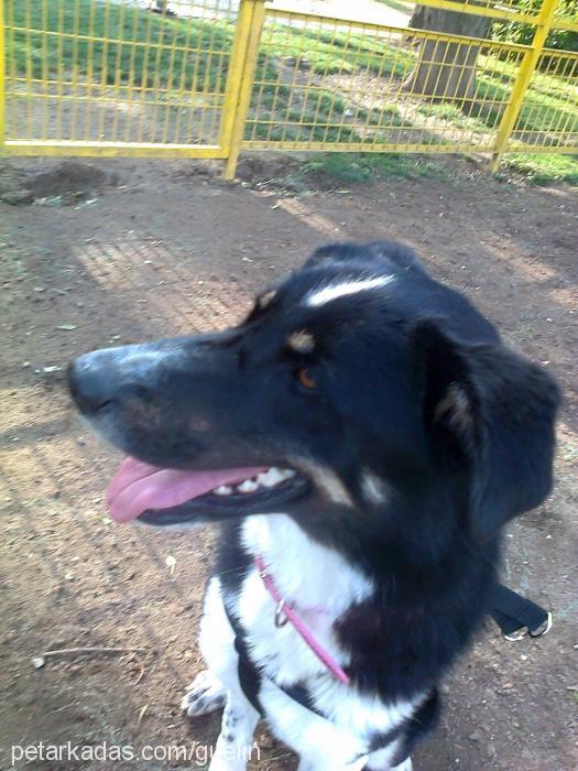
<path fill-rule="evenodd" d="M 197 620 L 211 533 L 108 519 L 103 490 L 119 457 L 74 414 L 67 361 L 227 325 L 254 290 L 315 246 L 381 237 L 414 246 L 566 392 L 554 493 L 508 529 L 504 565 L 512 588 L 553 610 L 554 628 L 509 643 L 488 627 L 444 684 L 441 726 L 415 768 L 578 767 L 578 192 L 499 183 L 467 162 L 448 164 L 450 181 L 283 196 L 271 184 L 255 189 L 258 177 L 274 174 L 266 163 L 246 163 L 246 182 L 230 185 L 186 162 L 64 171 L 59 162 L 4 162 L 0 193 L 21 205 L 0 202 L 0 768 L 11 767 L 11 746 L 40 741 L 154 746 L 156 759 L 21 759 L 15 768 L 205 768 L 218 732 L 218 716 L 189 723 L 178 709 L 201 666 Z M 39 172 L 56 172 L 58 185 L 34 182 Z M 78 647 L 138 650 L 41 658 Z M 252 768 L 295 768 L 264 730 L 257 738 Z M 179 747 L 187 761 L 168 757 Z"/>

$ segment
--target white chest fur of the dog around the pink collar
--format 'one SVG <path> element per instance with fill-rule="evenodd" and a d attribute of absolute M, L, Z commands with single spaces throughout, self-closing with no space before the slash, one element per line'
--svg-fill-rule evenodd
<path fill-rule="evenodd" d="M 346 667 L 348 653 L 339 647 L 332 625 L 351 605 L 372 594 L 372 582 L 339 554 L 312 541 L 285 514 L 248 518 L 242 540 L 251 554 L 263 557 L 280 594 L 294 605 L 316 641 Z M 335 731 L 335 740 L 341 742 L 348 736 L 343 752 L 355 754 L 372 731 L 385 731 L 412 714 L 421 698 L 384 704 L 377 695 L 362 695 L 353 686 L 339 683 L 292 625 L 275 626 L 275 607 L 253 568 L 243 582 L 238 605 L 251 658 L 274 683 L 305 684 L 317 708 L 329 719 L 317 718 L 271 684 L 262 699 L 270 707 L 270 723 L 280 738 L 297 747 L 304 738 L 302 732 L 312 726 L 316 731 L 329 731 L 331 737 Z"/>

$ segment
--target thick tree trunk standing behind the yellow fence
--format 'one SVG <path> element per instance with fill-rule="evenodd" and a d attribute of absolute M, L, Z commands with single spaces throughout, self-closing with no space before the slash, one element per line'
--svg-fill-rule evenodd
<path fill-rule="evenodd" d="M 417 6 L 410 25 L 414 26 L 414 23 L 427 31 L 484 37 L 491 20 Z M 476 88 L 476 62 L 479 53 L 480 46 L 470 43 L 425 40 L 404 88 L 430 100 L 464 101 L 471 98 Z"/>

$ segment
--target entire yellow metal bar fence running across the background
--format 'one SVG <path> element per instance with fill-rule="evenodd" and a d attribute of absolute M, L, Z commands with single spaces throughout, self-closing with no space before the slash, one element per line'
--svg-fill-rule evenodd
<path fill-rule="evenodd" d="M 306 0 L 0 0 L 0 148 L 216 158 L 227 176 L 251 149 L 480 152 L 494 165 L 577 152 L 578 53 L 546 45 L 578 32 L 567 3 L 423 4 L 483 31 L 319 15 Z M 531 43 L 489 40 L 495 20 L 530 25 Z"/>

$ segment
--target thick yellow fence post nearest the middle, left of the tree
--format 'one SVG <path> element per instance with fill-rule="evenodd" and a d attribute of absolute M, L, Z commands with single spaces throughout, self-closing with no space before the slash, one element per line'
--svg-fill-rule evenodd
<path fill-rule="evenodd" d="M 223 172 L 226 180 L 235 178 L 241 152 L 264 19 L 265 0 L 241 0 L 227 75 L 219 138 L 219 143 L 227 151 Z"/>

